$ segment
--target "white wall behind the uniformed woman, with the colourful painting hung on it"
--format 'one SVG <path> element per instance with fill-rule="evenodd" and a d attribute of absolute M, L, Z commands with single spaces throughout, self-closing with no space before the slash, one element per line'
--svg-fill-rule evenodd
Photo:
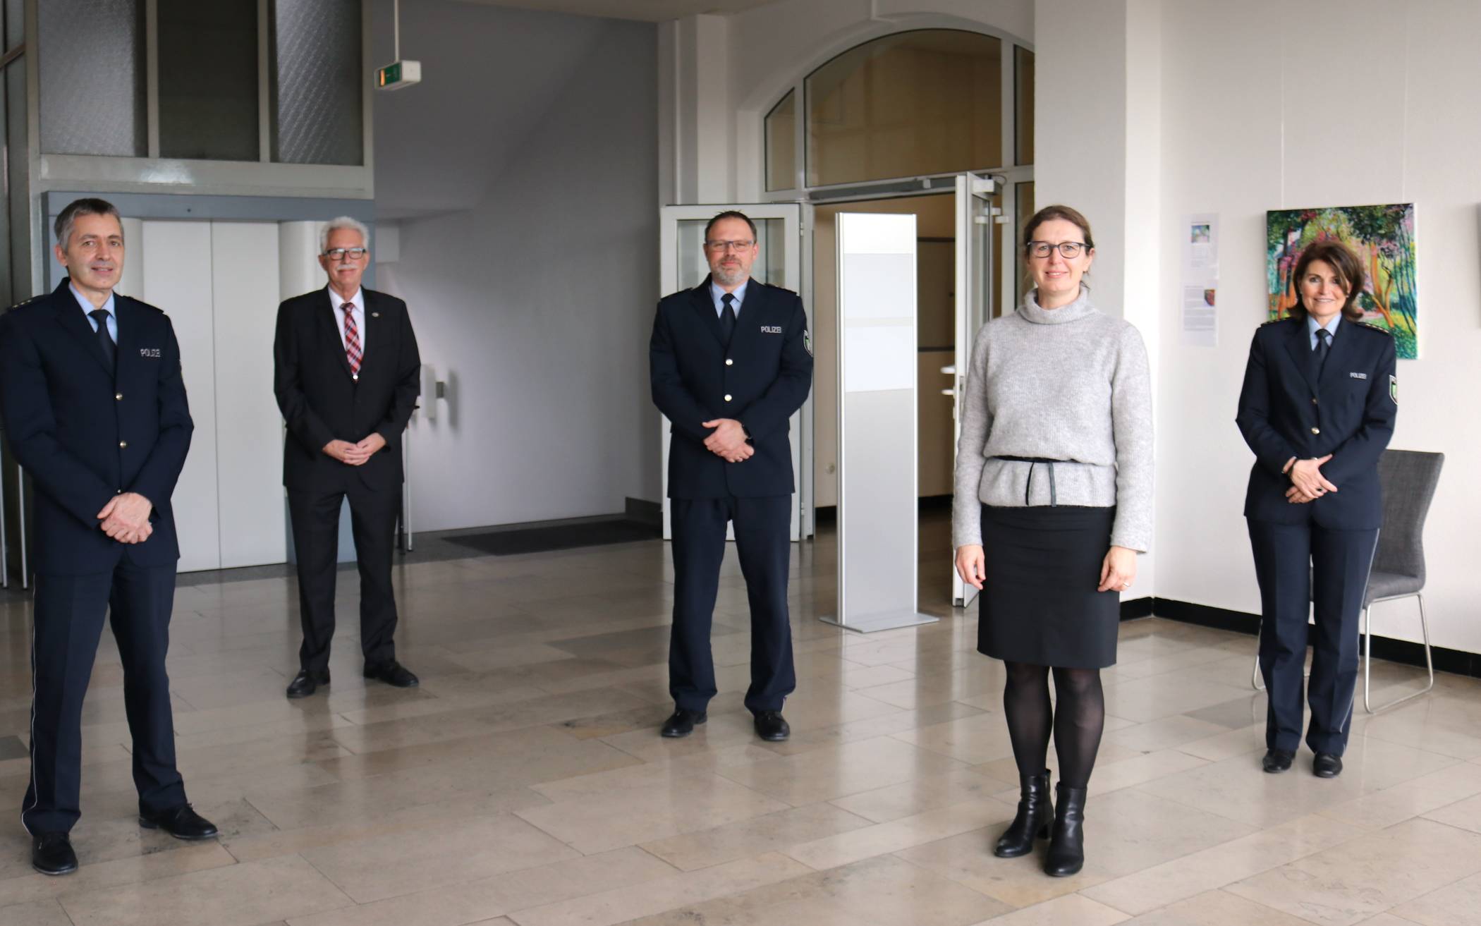
<path fill-rule="evenodd" d="M 1414 201 L 1420 359 L 1400 362 L 1391 446 L 1447 455 L 1425 535 L 1428 612 L 1437 646 L 1481 652 L 1472 564 L 1481 486 L 1468 471 L 1481 455 L 1471 410 L 1481 391 L 1481 59 L 1472 47 L 1481 4 L 1325 0 L 1293 10 L 1277 0 L 1186 0 L 1163 6 L 1161 31 L 1164 227 L 1217 212 L 1223 242 L 1219 345 L 1185 348 L 1177 242 L 1161 236 L 1157 594 L 1259 610 L 1240 517 L 1250 452 L 1234 412 L 1265 314 L 1265 210 Z M 1318 67 L 1318 46 L 1382 53 L 1382 65 Z M 1413 603 L 1376 609 L 1374 631 L 1417 640 Z"/>

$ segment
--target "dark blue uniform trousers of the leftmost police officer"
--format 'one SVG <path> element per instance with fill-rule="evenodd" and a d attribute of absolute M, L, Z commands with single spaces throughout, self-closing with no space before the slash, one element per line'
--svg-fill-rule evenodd
<path fill-rule="evenodd" d="M 139 812 L 158 813 L 185 803 L 164 673 L 173 606 L 173 563 L 136 566 L 124 557 L 113 572 L 36 576 L 31 784 L 21 805 L 27 831 L 68 833 L 81 816 L 83 696 L 105 615 L 123 661 Z"/>

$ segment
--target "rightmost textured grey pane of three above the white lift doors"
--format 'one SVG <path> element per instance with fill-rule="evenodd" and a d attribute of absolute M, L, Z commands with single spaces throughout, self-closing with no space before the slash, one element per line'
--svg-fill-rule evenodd
<path fill-rule="evenodd" d="M 360 0 L 274 0 L 273 160 L 363 164 Z"/>

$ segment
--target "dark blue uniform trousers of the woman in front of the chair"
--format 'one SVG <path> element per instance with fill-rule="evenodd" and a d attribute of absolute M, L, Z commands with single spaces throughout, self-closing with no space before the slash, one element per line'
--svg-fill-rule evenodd
<path fill-rule="evenodd" d="M 1265 745 L 1288 753 L 1300 745 L 1309 637 L 1306 745 L 1342 756 L 1358 680 L 1358 618 L 1379 532 L 1333 530 L 1312 520 L 1278 524 L 1250 519 L 1248 526 L 1260 584 L 1260 673 L 1269 696 Z M 1311 627 L 1308 612 L 1315 619 Z"/>

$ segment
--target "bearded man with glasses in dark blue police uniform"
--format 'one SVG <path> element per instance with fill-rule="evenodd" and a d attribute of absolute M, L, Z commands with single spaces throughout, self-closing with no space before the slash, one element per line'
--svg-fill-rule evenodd
<path fill-rule="evenodd" d="M 791 733 L 782 701 L 797 687 L 786 612 L 792 444 L 788 419 L 812 388 L 807 316 L 797 293 L 751 279 L 755 224 L 721 212 L 705 227 L 709 276 L 658 304 L 649 345 L 653 403 L 668 418 L 674 627 L 663 736 L 705 723 L 715 696 L 709 625 L 735 523 L 751 602 L 751 687 L 761 739 Z"/>

